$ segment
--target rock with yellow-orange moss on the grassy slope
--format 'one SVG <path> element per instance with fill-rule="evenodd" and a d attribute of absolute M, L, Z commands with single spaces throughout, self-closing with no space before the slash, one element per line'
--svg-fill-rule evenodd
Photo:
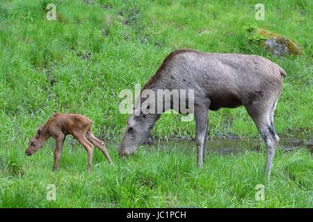
<path fill-rule="evenodd" d="M 257 33 L 264 37 L 259 46 L 264 47 L 266 51 L 275 56 L 300 55 L 303 51 L 295 42 L 283 37 L 277 33 L 272 33 L 266 29 L 259 28 Z"/>

